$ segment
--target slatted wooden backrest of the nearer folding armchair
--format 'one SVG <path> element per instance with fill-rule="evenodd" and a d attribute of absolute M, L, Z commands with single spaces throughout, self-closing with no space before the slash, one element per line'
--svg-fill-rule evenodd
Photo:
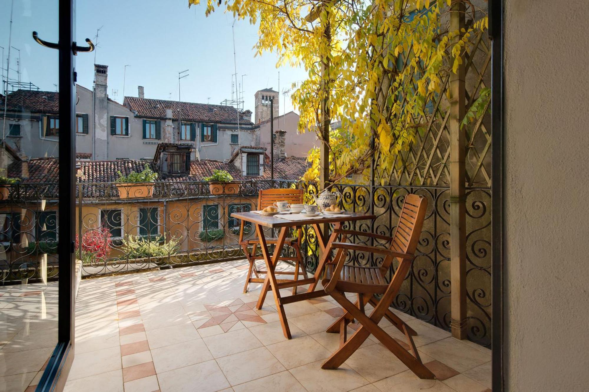
<path fill-rule="evenodd" d="M 399 223 L 391 242 L 391 250 L 415 254 L 427 209 L 428 200 L 425 197 L 415 194 L 405 196 L 401 215 L 399 215 Z M 393 257 L 386 257 L 382 267 L 389 268 L 392 260 Z"/>

